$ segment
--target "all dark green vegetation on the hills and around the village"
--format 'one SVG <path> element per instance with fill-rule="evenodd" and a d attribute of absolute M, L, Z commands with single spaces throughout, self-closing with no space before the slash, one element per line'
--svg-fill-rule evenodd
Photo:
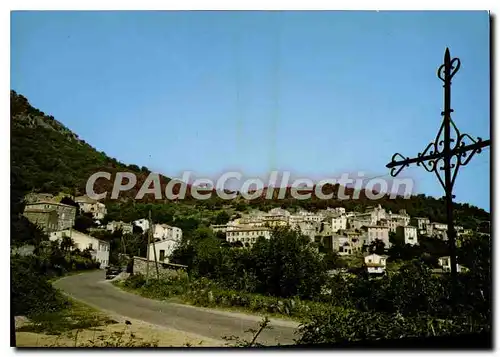
<path fill-rule="evenodd" d="M 20 213 L 23 197 L 31 191 L 77 195 L 84 193 L 88 177 L 107 171 L 111 181 L 98 180 L 96 192 L 111 191 L 118 171 L 136 174 L 134 189 L 123 193 L 117 202 L 106 201 L 109 220 L 130 222 L 147 217 L 183 230 L 183 241 L 174 252 L 174 262 L 189 266 L 189 276 L 166 278 L 148 284 L 140 276 L 125 282 L 128 289 L 156 298 L 177 297 L 202 306 L 240 307 L 263 314 L 281 314 L 303 320 L 299 342 L 338 342 L 341 340 L 378 339 L 400 336 L 429 336 L 491 328 L 491 242 L 474 236 L 458 250 L 459 262 L 470 269 L 460 276 L 457 295 L 452 299 L 449 277 L 432 275 L 436 258 L 445 255 L 447 247 L 432 238 L 420 239 L 419 247 L 395 244 L 389 255 L 399 269 L 380 279 L 359 274 L 352 278 L 328 277 L 327 270 L 343 267 L 344 259 L 335 254 L 320 253 L 308 238 L 298 232 L 276 230 L 270 240 L 259 239 L 253 247 L 230 245 L 207 228 L 223 224 L 250 209 L 269 210 L 282 207 L 317 211 L 327 207 L 345 207 L 363 211 L 373 205 L 364 191 L 358 199 L 294 200 L 287 192 L 284 200 L 247 201 L 239 196 L 231 202 L 217 197 L 206 201 L 189 199 L 179 202 L 155 201 L 146 195 L 132 202 L 149 170 L 126 165 L 80 140 L 53 117 L 33 108 L 21 95 L 11 91 L 11 243 L 33 244 L 36 255 L 11 257 L 12 301 L 15 315 L 34 317 L 43 313 L 61 313 L 68 308 L 48 279 L 67 272 L 93 269 L 96 263 L 88 252 L 70 250 L 71 242 L 57 246 Z M 169 181 L 161 177 L 162 191 Z M 327 186 L 324 193 L 335 192 Z M 275 192 L 276 193 L 276 192 Z M 347 195 L 353 195 L 346 189 Z M 264 192 L 265 194 L 265 192 Z M 383 198 L 386 210 L 405 209 L 411 216 L 445 221 L 443 199 L 425 195 Z M 455 204 L 455 217 L 464 228 L 475 229 L 490 214 L 468 204 Z M 77 227 L 87 231 L 93 222 L 79 215 Z M 126 236 L 96 233 L 111 242 L 112 256 L 120 252 L 145 254 L 142 232 Z M 370 249 L 380 252 L 376 243 Z M 170 280 L 168 280 L 170 279 Z"/>

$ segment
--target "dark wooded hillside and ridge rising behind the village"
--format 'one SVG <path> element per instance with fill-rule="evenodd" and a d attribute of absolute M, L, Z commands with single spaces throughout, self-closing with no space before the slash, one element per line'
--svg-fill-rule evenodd
<path fill-rule="evenodd" d="M 20 94 L 11 91 L 11 196 L 13 212 L 24 194 L 35 192 L 48 192 L 57 194 L 65 192 L 80 195 L 84 193 L 88 177 L 97 171 L 110 172 L 110 181 L 101 179 L 97 181 L 96 192 L 111 192 L 114 174 L 118 171 L 133 172 L 137 176 L 137 184 L 134 189 L 122 193 L 120 198 L 135 197 L 149 174 L 146 167 L 139 168 L 137 165 L 126 165 L 120 161 L 99 152 L 78 135 L 66 128 L 54 117 L 33 108 L 28 100 Z M 169 178 L 161 176 L 162 192 Z M 325 194 L 336 187 L 324 187 Z M 187 198 L 190 197 L 189 189 Z M 352 189 L 346 189 L 346 194 L 351 195 Z M 277 194 L 277 192 L 275 192 Z M 263 193 L 265 195 L 265 191 Z M 208 210 L 216 210 L 227 205 L 213 195 L 213 199 L 197 201 L 196 205 Z M 143 203 L 153 202 L 153 195 L 146 195 Z M 192 200 L 186 202 L 193 203 Z M 165 202 L 156 202 L 164 204 Z M 398 198 L 390 200 L 384 198 L 376 202 L 370 201 L 362 191 L 356 200 L 320 200 L 313 197 L 310 200 L 295 200 L 291 198 L 288 190 L 285 200 L 256 199 L 252 201 L 239 199 L 231 202 L 236 208 L 259 208 L 270 209 L 282 206 L 284 208 L 302 207 L 309 210 L 318 210 L 328 206 L 343 206 L 349 210 L 363 211 L 367 206 L 381 204 L 388 210 L 396 212 L 400 209 L 412 216 L 427 216 L 433 221 L 445 221 L 445 205 L 442 199 L 435 199 L 425 195 L 417 195 L 411 199 Z M 116 204 L 114 205 L 116 206 Z M 129 207 L 130 205 L 127 205 Z M 135 207 L 135 205 L 133 205 Z M 139 205 L 134 209 L 139 209 Z M 142 207 L 143 208 L 143 207 Z M 490 214 L 484 210 L 468 204 L 455 204 L 455 216 L 460 224 L 466 227 L 474 227 L 477 222 L 489 220 Z"/>

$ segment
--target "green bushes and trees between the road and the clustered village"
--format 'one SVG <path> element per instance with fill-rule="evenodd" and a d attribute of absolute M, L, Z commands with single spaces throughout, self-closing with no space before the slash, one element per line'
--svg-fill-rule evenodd
<path fill-rule="evenodd" d="M 490 331 L 490 242 L 480 236 L 467 242 L 459 261 L 471 272 L 459 275 L 454 296 L 449 275 L 433 274 L 419 255 L 400 259 L 399 269 L 381 278 L 327 277 L 326 261 L 338 257 L 318 254 L 308 239 L 285 229 L 252 248 L 224 246 L 198 229 L 175 252 L 179 262 L 189 262 L 189 274 L 147 284 L 136 275 L 123 284 L 150 298 L 302 321 L 298 343 Z M 291 264 L 306 260 L 314 264 Z"/>

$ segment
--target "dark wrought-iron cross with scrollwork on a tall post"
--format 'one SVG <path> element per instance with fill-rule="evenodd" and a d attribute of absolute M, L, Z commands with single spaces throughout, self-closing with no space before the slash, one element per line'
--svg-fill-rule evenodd
<path fill-rule="evenodd" d="M 460 166 L 467 165 L 474 154 L 480 153 L 482 148 L 490 146 L 489 139 L 482 140 L 478 137 L 476 140 L 468 134 L 461 134 L 451 119 L 451 113 L 453 112 L 453 109 L 451 109 L 451 79 L 458 72 L 459 68 L 460 60 L 458 58 L 451 59 L 450 50 L 446 48 L 444 64 L 439 67 L 437 72 L 438 78 L 444 83 L 444 110 L 441 112 L 443 121 L 436 139 L 427 145 L 424 151 L 419 153 L 417 157 L 410 159 L 396 153 L 392 156 L 391 162 L 386 165 L 387 168 L 391 169 L 391 176 L 396 177 L 405 167 L 416 163 L 417 166 L 423 166 L 428 172 L 434 172 L 441 186 L 443 186 L 446 201 L 453 296 L 455 296 L 457 288 L 456 231 L 453 221 L 453 198 L 455 196 L 453 195 L 453 185 L 455 184 Z M 441 171 L 444 171 L 444 180 L 442 174 L 440 174 Z"/>

